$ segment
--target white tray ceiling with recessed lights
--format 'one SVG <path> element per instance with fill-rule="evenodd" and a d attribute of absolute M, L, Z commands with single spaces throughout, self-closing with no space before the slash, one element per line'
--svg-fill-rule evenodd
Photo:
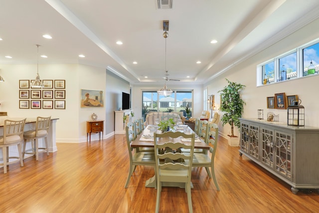
<path fill-rule="evenodd" d="M 166 69 L 181 81 L 167 84 L 203 84 L 318 11 L 319 0 L 173 0 L 172 9 L 158 9 L 157 0 L 0 0 L 0 64 L 36 63 L 40 44 L 48 58 L 39 63 L 111 67 L 132 84 L 163 84 L 169 20 Z"/>

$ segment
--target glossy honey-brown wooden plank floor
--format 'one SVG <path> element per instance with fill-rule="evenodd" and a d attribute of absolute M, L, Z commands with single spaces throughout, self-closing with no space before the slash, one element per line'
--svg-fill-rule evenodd
<path fill-rule="evenodd" d="M 145 188 L 152 167 L 138 167 L 128 189 L 128 151 L 124 135 L 91 144 L 58 143 L 58 151 L 0 168 L 1 213 L 153 213 L 156 190 Z M 215 158 L 220 192 L 205 169 L 192 170 L 194 213 L 315 213 L 319 194 L 294 195 L 290 186 L 219 141 Z M 316 169 L 316 168 L 314 168 Z M 318 168 L 317 168 L 318 169 Z M 163 188 L 162 213 L 184 213 L 184 189 Z"/>

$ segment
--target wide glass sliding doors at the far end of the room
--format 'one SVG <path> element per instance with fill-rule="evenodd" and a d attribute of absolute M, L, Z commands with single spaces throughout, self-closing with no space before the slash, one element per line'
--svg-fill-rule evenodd
<path fill-rule="evenodd" d="M 185 111 L 186 104 L 192 107 L 192 91 L 174 91 L 171 96 L 159 95 L 157 91 L 142 92 L 142 116 L 151 111 L 180 112 Z M 186 112 L 184 112 L 186 116 Z"/>

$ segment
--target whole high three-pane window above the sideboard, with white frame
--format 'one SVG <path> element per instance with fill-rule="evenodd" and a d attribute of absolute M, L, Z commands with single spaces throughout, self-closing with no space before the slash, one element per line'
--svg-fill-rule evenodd
<path fill-rule="evenodd" d="M 319 38 L 257 65 L 257 86 L 319 73 Z"/>

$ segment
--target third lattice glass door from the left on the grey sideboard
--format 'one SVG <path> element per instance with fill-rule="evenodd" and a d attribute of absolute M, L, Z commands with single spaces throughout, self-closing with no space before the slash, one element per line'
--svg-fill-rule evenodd
<path fill-rule="evenodd" d="M 261 128 L 261 162 L 270 168 L 274 168 L 274 130 Z"/>

